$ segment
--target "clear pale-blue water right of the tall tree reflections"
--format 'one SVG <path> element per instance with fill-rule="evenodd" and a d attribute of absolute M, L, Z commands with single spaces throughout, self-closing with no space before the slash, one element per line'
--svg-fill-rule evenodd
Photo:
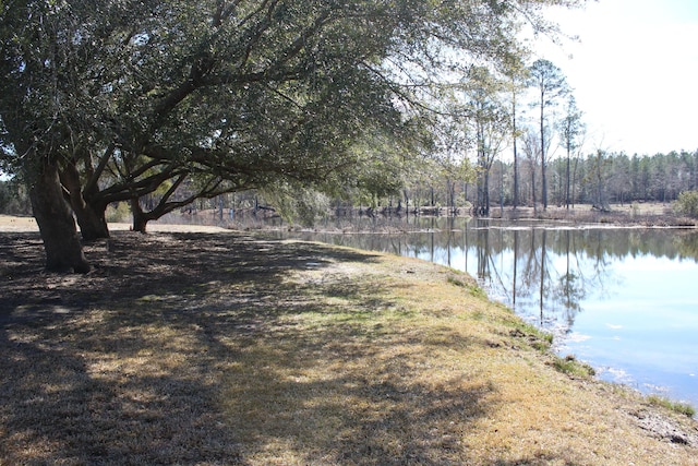
<path fill-rule="evenodd" d="M 591 361 L 604 380 L 698 406 L 698 265 L 643 255 L 610 267 L 623 285 L 585 300 L 574 331 L 587 338 L 559 351 Z"/>

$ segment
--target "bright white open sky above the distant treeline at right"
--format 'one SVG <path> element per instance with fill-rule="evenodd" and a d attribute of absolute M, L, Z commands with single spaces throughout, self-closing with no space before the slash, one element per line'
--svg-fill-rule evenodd
<path fill-rule="evenodd" d="M 583 152 L 628 155 L 698 150 L 698 0 L 589 0 L 553 9 L 578 41 L 539 39 L 583 111 Z"/>

